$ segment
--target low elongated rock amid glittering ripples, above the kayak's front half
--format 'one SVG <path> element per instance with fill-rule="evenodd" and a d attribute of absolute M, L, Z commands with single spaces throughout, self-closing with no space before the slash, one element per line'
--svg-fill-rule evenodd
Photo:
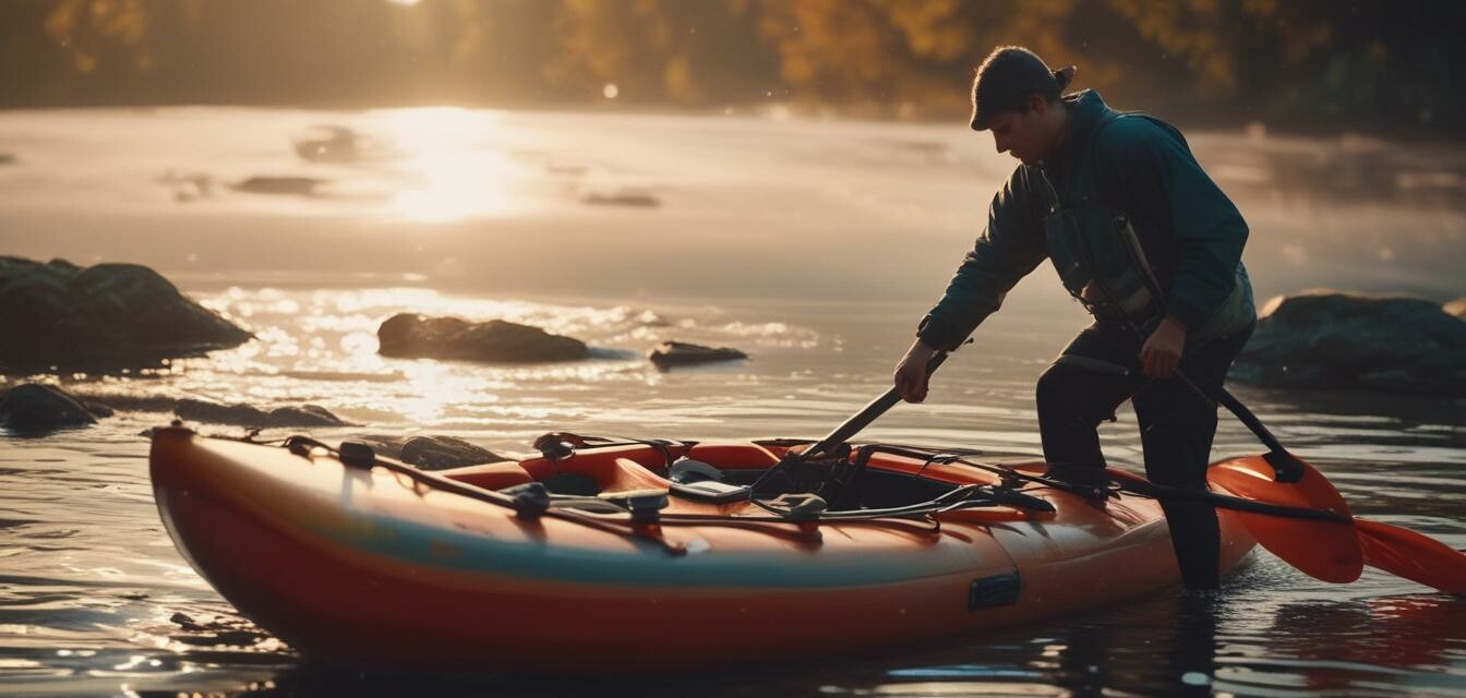
<path fill-rule="evenodd" d="M 585 342 L 538 327 L 490 320 L 427 318 L 397 314 L 377 328 L 378 352 L 406 359 L 491 362 L 573 361 L 585 358 Z"/>

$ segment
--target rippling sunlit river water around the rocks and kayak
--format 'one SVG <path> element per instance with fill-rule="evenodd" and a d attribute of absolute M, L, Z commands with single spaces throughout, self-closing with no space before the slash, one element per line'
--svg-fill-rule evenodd
<path fill-rule="evenodd" d="M 315 123 L 378 138 L 381 157 L 301 161 L 289 138 Z M 1259 296 L 1318 284 L 1466 293 L 1460 153 L 1256 133 L 1192 141 L 1252 223 Z M 259 337 L 161 370 L 6 380 L 135 405 L 318 403 L 358 424 L 314 431 L 327 441 L 450 434 L 510 456 L 551 430 L 819 436 L 888 386 L 915 320 L 1012 169 L 988 148 L 960 128 L 777 113 L 3 113 L 0 151 L 18 161 L 0 166 L 0 252 L 150 264 Z M 227 186 L 261 174 L 331 182 L 315 196 Z M 588 202 L 626 195 L 660 205 Z M 537 324 L 586 340 L 594 358 L 386 359 L 375 327 L 394 312 Z M 865 436 L 1036 456 L 1034 380 L 1082 321 L 1041 270 L 943 368 L 925 405 L 896 408 Z M 664 339 L 752 359 L 660 372 L 642 355 Z M 1356 513 L 1466 547 L 1466 403 L 1234 389 Z M 1138 468 L 1133 415 L 1119 416 L 1101 430 L 1105 453 Z M 342 672 L 303 663 L 239 617 L 173 550 L 138 436 L 167 419 L 123 411 L 86 430 L 0 437 L 0 692 L 1466 692 L 1460 600 L 1371 570 L 1327 585 L 1261 551 L 1214 597 L 1165 592 L 817 663 L 625 682 Z M 1215 456 L 1258 450 L 1223 421 Z M 671 669 L 696 648 L 668 639 L 648 651 Z"/>

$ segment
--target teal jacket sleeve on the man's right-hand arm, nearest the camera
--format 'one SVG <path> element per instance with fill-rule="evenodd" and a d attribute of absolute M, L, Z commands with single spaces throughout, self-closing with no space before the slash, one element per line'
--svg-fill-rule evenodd
<path fill-rule="evenodd" d="M 1151 119 L 1120 119 L 1105 129 L 1101 163 L 1129 205 L 1168 221 L 1176 251 L 1165 312 L 1198 328 L 1231 293 L 1248 223 L 1196 163 L 1186 139 Z"/>

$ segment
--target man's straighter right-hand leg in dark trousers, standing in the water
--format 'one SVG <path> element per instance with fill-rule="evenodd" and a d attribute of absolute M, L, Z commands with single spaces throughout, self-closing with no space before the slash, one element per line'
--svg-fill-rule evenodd
<path fill-rule="evenodd" d="M 1250 334 L 1249 327 L 1217 339 L 1195 355 L 1185 355 L 1182 367 L 1195 381 L 1220 386 Z M 1141 422 L 1145 475 L 1161 485 L 1205 490 L 1211 441 L 1217 434 L 1217 405 L 1198 396 L 1180 378 L 1148 383 L 1132 405 Z M 1163 500 L 1161 507 L 1186 588 L 1215 588 L 1221 556 L 1217 510 L 1211 504 L 1174 500 Z"/>

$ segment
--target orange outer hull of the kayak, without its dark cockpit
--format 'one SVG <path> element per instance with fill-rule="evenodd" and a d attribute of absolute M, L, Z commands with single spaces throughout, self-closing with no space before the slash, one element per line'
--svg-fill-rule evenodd
<path fill-rule="evenodd" d="M 639 449 L 576 459 L 627 469 L 660 458 Z M 944 513 L 940 526 L 664 522 L 627 535 L 520 518 L 381 466 L 346 466 L 324 449 L 301 456 L 164 428 L 150 460 L 160 515 L 189 563 L 292 647 L 353 664 L 645 670 L 677 647 L 698 650 L 679 653 L 679 666 L 840 654 L 1041 620 L 1179 581 L 1158 504 L 1133 497 L 1095 506 L 1048 493 L 1054 513 L 978 509 Z M 940 468 L 957 482 L 987 477 Z M 726 504 L 673 503 L 668 512 L 736 518 Z M 1230 569 L 1253 541 L 1218 513 Z"/>

